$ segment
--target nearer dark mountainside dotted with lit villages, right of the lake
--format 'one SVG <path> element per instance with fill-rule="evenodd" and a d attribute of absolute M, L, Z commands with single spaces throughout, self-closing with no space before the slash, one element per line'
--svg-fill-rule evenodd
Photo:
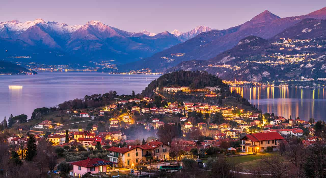
<path fill-rule="evenodd" d="M 209 60 L 184 61 L 168 72 L 200 70 L 226 80 L 305 81 L 326 77 L 326 20 L 307 18 L 268 40 L 247 36 Z"/>

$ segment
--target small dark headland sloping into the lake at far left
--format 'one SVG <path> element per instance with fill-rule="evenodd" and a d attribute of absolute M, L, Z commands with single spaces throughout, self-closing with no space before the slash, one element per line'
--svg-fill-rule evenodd
<path fill-rule="evenodd" d="M 20 65 L 0 60 L 0 74 L 25 74 L 25 73 L 37 74 L 35 71 L 30 71 Z"/>

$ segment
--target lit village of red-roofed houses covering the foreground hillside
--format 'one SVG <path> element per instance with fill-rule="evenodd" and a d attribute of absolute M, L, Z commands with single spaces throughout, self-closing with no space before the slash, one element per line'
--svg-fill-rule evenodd
<path fill-rule="evenodd" d="M 164 86 L 152 92 L 86 95 L 80 101 L 86 108 L 78 99 L 59 104 L 60 110 L 38 108 L 28 122 L 11 116 L 1 126 L 2 144 L 15 160 L 35 162 L 31 145 L 47 145 L 44 165 L 51 166 L 42 172 L 51 177 L 174 177 L 179 170 L 209 174 L 215 159 L 237 162 L 228 169 L 245 175 L 294 139 L 304 149 L 321 138 L 315 134 L 320 121 L 262 113 L 236 90 Z"/>

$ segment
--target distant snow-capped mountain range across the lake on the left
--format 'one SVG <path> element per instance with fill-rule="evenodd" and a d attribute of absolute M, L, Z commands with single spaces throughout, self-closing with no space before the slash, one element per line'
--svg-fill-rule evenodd
<path fill-rule="evenodd" d="M 199 26 L 179 38 L 168 31 L 127 32 L 100 21 L 70 26 L 42 19 L 24 23 L 13 20 L 0 23 L 0 43 L 3 43 L 0 58 L 30 56 L 28 62 L 115 61 L 123 64 L 150 57 L 209 29 Z"/>

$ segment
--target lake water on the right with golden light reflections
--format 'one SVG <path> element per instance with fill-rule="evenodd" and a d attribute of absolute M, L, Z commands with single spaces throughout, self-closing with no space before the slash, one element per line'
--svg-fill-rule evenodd
<path fill-rule="evenodd" d="M 326 120 L 325 88 L 288 88 L 288 87 L 230 87 L 237 90 L 262 112 L 275 113 L 277 116 L 303 120 L 313 117 Z"/>

